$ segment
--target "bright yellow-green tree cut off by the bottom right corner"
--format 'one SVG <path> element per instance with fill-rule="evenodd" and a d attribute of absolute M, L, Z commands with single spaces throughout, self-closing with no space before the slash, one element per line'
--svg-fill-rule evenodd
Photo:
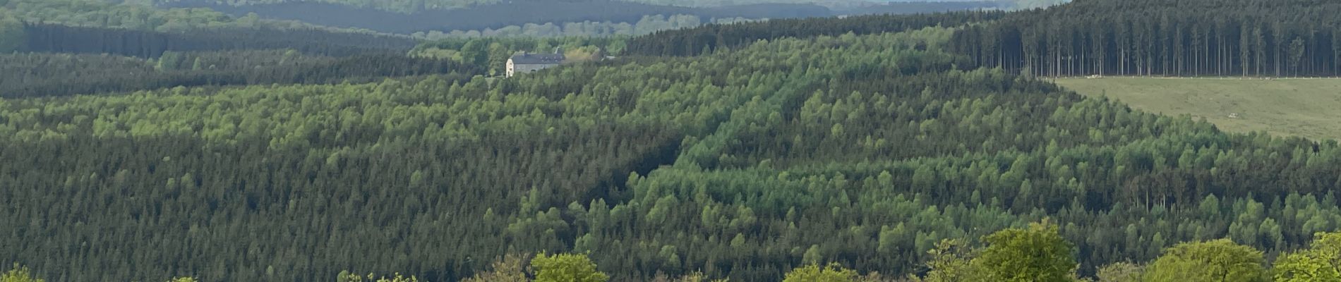
<path fill-rule="evenodd" d="M 1275 261 L 1277 282 L 1341 282 L 1341 233 L 1320 233 L 1306 250 Z"/>

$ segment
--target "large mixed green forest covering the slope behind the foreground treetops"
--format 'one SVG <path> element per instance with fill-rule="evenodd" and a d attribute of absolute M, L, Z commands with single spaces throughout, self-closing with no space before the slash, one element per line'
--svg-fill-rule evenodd
<path fill-rule="evenodd" d="M 826 261 L 916 273 L 943 238 L 1053 217 L 1089 273 L 1180 241 L 1274 254 L 1341 222 L 1336 143 L 1227 135 L 955 69 L 940 51 L 952 33 L 778 39 L 492 83 L 8 100 L 0 154 L 16 162 L 0 175 L 21 188 L 5 190 L 4 218 L 27 227 L 5 261 L 54 279 L 452 281 L 547 250 L 591 251 L 613 279 L 771 281 Z M 31 170 L 58 163 L 78 166 Z M 54 223 L 21 223 L 34 217 Z M 76 242 L 90 247 L 55 249 Z M 255 249 L 158 251 L 228 242 Z M 152 263 L 60 267 L 118 253 Z"/>

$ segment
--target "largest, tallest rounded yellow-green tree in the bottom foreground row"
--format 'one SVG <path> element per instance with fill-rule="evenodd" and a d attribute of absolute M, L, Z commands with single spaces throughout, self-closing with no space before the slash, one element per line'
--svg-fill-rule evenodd
<path fill-rule="evenodd" d="M 1071 243 L 1047 221 L 996 231 L 983 241 L 988 246 L 972 263 L 987 281 L 1065 282 L 1075 270 Z"/>

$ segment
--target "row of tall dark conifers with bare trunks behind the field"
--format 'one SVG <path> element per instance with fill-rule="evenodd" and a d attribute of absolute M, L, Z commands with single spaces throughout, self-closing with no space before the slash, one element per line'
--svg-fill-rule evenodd
<path fill-rule="evenodd" d="M 1341 1 L 1082 0 L 968 27 L 949 45 L 1035 76 L 1332 76 L 1336 15 Z"/>

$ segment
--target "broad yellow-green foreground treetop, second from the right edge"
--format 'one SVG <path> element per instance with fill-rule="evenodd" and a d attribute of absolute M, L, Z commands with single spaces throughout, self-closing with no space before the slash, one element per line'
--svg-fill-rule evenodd
<path fill-rule="evenodd" d="M 1145 270 L 1148 282 L 1262 282 L 1262 251 L 1230 239 L 1179 243 Z"/>

